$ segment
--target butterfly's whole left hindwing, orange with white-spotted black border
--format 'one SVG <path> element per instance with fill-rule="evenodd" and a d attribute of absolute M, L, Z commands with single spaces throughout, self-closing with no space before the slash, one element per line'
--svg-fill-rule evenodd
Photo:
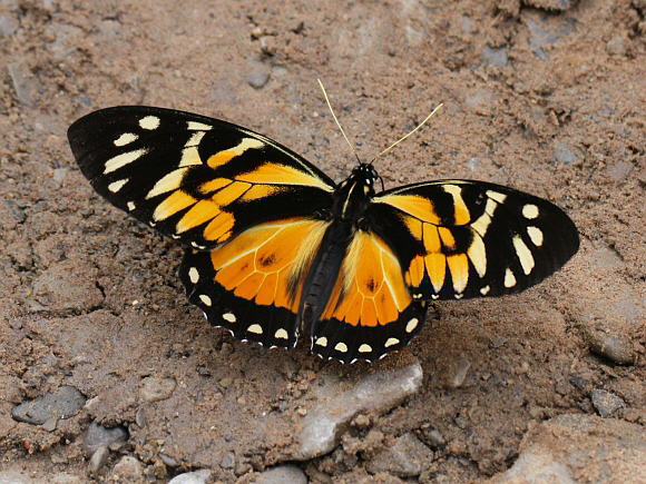
<path fill-rule="evenodd" d="M 329 223 L 293 218 L 252 227 L 213 251 L 187 250 L 179 277 L 213 326 L 292 348 L 303 280 Z"/>

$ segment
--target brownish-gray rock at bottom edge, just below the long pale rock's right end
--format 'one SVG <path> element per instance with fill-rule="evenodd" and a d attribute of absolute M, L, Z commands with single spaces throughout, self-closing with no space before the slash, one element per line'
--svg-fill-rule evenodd
<path fill-rule="evenodd" d="M 392 447 L 376 454 L 365 468 L 371 474 L 386 472 L 398 477 L 414 477 L 432 462 L 433 452 L 409 432 L 399 437 Z"/>

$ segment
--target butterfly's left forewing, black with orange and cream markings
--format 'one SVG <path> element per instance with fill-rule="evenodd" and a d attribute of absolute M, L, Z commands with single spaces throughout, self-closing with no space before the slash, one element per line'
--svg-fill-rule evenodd
<path fill-rule="evenodd" d="M 68 131 L 94 188 L 184 245 L 209 249 L 254 225 L 332 205 L 334 182 L 271 139 L 187 112 L 116 107 Z"/>

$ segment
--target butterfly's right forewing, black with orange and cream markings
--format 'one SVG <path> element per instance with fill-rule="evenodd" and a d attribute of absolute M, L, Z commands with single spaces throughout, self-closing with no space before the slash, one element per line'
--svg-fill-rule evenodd
<path fill-rule="evenodd" d="M 499 185 L 433 181 L 372 201 L 366 218 L 393 247 L 415 299 L 518 293 L 560 268 L 579 245 L 560 208 Z"/>

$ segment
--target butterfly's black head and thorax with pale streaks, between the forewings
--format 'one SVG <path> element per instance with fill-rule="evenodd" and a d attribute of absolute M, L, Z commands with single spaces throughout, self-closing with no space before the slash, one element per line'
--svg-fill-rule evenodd
<path fill-rule="evenodd" d="M 374 197 L 374 182 L 378 179 L 379 175 L 372 165 L 360 164 L 354 167 L 352 174 L 336 188 L 332 217 L 358 221 Z"/>

